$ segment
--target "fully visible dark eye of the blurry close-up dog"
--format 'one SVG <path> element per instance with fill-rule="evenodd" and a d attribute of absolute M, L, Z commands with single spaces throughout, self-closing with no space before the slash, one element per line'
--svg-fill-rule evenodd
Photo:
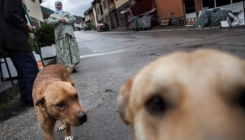
<path fill-rule="evenodd" d="M 145 107 L 153 115 L 162 114 L 166 110 L 166 104 L 161 96 L 150 98 L 146 102 Z"/>

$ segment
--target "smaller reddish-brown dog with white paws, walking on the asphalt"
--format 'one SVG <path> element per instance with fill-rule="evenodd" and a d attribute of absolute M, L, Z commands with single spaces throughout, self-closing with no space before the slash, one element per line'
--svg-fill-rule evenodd
<path fill-rule="evenodd" d="M 87 121 L 69 71 L 61 65 L 49 65 L 38 73 L 32 97 L 46 140 L 54 140 L 57 120 L 60 120 L 59 130 L 66 129 L 66 140 L 73 139 L 70 125 L 80 126 Z"/>

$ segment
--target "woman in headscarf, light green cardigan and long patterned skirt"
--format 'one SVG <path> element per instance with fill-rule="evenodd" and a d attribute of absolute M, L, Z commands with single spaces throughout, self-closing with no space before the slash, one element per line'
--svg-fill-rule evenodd
<path fill-rule="evenodd" d="M 55 2 L 55 13 L 51 14 L 47 23 L 54 25 L 56 63 L 65 67 L 73 67 L 80 62 L 77 40 L 72 24 L 76 18 L 67 11 L 62 10 L 62 2 Z M 77 72 L 74 68 L 73 73 Z"/>

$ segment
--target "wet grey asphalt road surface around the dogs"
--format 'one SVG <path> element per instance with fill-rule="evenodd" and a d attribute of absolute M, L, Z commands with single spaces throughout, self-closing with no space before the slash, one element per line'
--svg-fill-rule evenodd
<path fill-rule="evenodd" d="M 125 80 L 143 66 L 175 51 L 212 48 L 245 58 L 245 29 L 214 29 L 154 33 L 76 32 L 81 61 L 72 74 L 88 122 L 72 128 L 76 140 L 131 140 L 120 119 L 116 99 Z M 181 70 L 180 70 L 181 71 Z M 0 122 L 0 140 L 42 140 L 34 108 L 22 108 Z M 15 112 L 13 112 L 15 113 Z M 64 132 L 54 132 L 57 140 Z"/>

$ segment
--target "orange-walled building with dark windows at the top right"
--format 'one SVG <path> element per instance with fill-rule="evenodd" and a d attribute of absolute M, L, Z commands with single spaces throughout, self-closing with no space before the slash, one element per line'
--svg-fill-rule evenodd
<path fill-rule="evenodd" d="M 197 18 L 203 7 L 244 11 L 242 0 L 155 0 L 157 16 L 167 18 Z"/>

